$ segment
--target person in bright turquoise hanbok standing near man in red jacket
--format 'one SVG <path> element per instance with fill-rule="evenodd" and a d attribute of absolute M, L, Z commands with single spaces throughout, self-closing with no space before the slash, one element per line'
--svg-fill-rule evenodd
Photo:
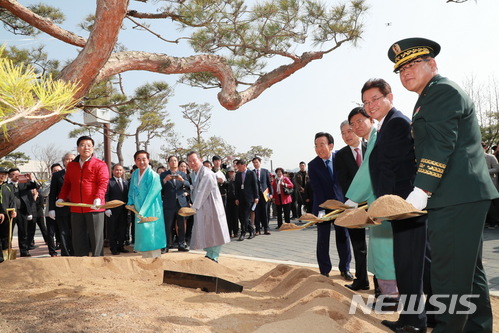
<path fill-rule="evenodd" d="M 134 155 L 138 169 L 132 174 L 128 205 L 134 206 L 135 214 L 134 249 L 142 252 L 143 258 L 161 256 L 161 249 L 166 247 L 163 202 L 161 199 L 161 181 L 159 175 L 149 167 L 149 153 L 139 150 Z M 142 217 L 157 217 L 156 221 L 140 222 Z"/>

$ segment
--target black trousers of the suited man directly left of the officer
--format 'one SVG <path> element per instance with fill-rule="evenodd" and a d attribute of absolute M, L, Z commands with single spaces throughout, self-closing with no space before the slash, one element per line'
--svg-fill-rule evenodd
<path fill-rule="evenodd" d="M 393 258 L 397 287 L 404 301 L 404 310 L 399 321 L 415 327 L 426 327 L 426 313 L 423 299 L 423 274 L 425 261 L 430 255 L 426 254 L 427 246 L 427 216 L 392 221 L 393 230 Z M 420 309 L 421 311 L 414 311 Z M 413 313 L 416 312 L 416 313 Z M 419 312 L 419 313 L 417 313 Z"/>

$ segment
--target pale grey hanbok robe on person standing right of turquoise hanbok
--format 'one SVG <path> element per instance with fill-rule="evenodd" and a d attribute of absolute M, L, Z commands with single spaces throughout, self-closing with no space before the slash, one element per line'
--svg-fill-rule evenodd
<path fill-rule="evenodd" d="M 230 242 L 229 228 L 217 176 L 203 166 L 196 174 L 191 192 L 192 208 L 196 210 L 192 228 L 191 249 L 204 249 Z"/>

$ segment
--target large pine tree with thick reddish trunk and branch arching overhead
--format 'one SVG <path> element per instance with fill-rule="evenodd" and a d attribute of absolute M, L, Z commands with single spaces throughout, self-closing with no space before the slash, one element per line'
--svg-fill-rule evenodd
<path fill-rule="evenodd" d="M 128 8 L 129 0 L 97 0 L 88 39 L 60 28 L 51 18 L 56 11 L 50 8 L 49 15 L 42 5 L 27 8 L 14 0 L 0 0 L 3 8 L 0 19 L 13 33 L 22 30 L 29 34 L 29 29 L 36 28 L 81 48 L 59 76 L 63 82 L 77 83 L 75 99 L 85 96 L 94 84 L 119 73 L 145 70 L 185 74 L 183 82 L 216 87 L 220 104 L 235 110 L 310 62 L 345 43 L 355 44 L 362 33 L 361 17 L 367 11 L 363 0 L 330 8 L 318 0 L 251 3 L 252 6 L 239 0 L 172 0 L 161 2 L 164 7 L 157 13 L 140 13 Z M 164 53 L 115 51 L 119 34 L 126 32 L 122 30 L 125 18 L 169 47 L 188 40 L 193 55 L 173 57 Z M 139 22 L 166 19 L 173 21 L 167 31 L 171 36 L 168 40 L 149 24 Z M 22 27 L 21 21 L 25 23 Z M 311 44 L 319 49 L 295 53 L 301 49 L 298 45 Z M 160 50 L 164 52 L 165 48 L 160 46 Z M 270 58 L 272 65 L 267 63 Z M 40 116 L 51 113 L 46 109 L 38 112 Z M 5 138 L 0 141 L 0 156 L 59 120 L 59 116 L 50 116 L 37 121 L 18 121 L 15 130 L 7 128 L 11 141 Z"/>

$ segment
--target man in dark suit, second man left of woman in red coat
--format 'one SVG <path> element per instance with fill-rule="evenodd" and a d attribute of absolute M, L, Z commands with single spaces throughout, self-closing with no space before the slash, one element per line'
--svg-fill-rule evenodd
<path fill-rule="evenodd" d="M 249 171 L 246 161 L 237 161 L 238 173 L 236 174 L 235 190 L 236 205 L 238 206 L 239 222 L 241 223 L 241 234 L 239 240 L 244 240 L 246 231 L 249 231 L 248 239 L 255 237 L 255 227 L 250 223 L 250 212 L 253 206 L 258 205 L 258 183 L 256 174 Z"/>

